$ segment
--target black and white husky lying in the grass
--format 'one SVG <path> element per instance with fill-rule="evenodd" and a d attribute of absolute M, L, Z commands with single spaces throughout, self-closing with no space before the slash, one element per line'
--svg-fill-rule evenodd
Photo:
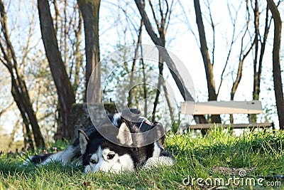
<path fill-rule="evenodd" d="M 129 112 L 130 111 L 130 112 Z M 171 166 L 175 164 L 175 158 L 164 149 L 163 126 L 151 123 L 141 112 L 130 109 L 108 118 L 97 128 L 89 127 L 86 131 L 79 130 L 79 137 L 67 149 L 55 154 L 41 154 L 31 157 L 34 164 L 48 164 L 52 161 L 60 161 L 62 164 L 71 162 L 82 156 L 84 173 L 88 172 L 127 172 L 135 171 L 138 167 L 151 168 L 157 165 Z M 114 130 L 114 127 L 117 130 Z M 112 140 L 106 139 L 100 133 L 106 130 Z M 153 130 L 155 129 L 155 130 Z M 137 136 L 133 134 L 146 134 Z M 157 136 L 158 139 L 153 141 Z M 147 142 L 149 141 L 150 142 Z"/>

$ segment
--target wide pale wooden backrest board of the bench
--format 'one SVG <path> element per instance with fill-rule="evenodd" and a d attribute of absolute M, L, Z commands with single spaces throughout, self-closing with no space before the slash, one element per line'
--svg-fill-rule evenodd
<path fill-rule="evenodd" d="M 182 114 L 190 115 L 219 115 L 219 114 L 258 114 L 262 113 L 261 101 L 209 101 L 209 102 L 181 102 Z"/>

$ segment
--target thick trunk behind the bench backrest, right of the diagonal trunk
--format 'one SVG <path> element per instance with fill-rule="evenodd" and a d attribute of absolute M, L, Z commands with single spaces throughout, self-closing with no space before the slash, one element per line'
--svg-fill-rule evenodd
<path fill-rule="evenodd" d="M 200 51 L 202 54 L 206 78 L 207 78 L 208 100 L 217 100 L 215 81 L 213 75 L 213 65 L 209 58 L 204 24 L 202 20 L 202 13 L 200 9 L 200 1 L 195 0 L 194 2 L 195 2 L 196 23 L 198 27 L 198 32 L 200 33 Z M 220 115 L 212 115 L 211 120 L 212 122 L 220 123 L 221 122 Z"/>

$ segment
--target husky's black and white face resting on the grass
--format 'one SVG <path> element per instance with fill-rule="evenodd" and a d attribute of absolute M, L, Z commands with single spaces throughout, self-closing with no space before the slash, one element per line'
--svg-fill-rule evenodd
<path fill-rule="evenodd" d="M 99 170 L 114 173 L 134 170 L 131 148 L 113 144 L 98 134 L 87 137 L 82 130 L 79 130 L 79 139 L 85 173 Z"/>

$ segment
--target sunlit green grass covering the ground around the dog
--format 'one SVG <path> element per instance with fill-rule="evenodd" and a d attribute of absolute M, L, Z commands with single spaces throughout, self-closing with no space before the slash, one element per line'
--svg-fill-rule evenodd
<path fill-rule="evenodd" d="M 166 149 L 173 152 L 177 164 L 152 170 L 138 169 L 129 174 L 83 174 L 75 165 L 62 167 L 19 167 L 20 156 L 0 156 L 1 189 L 217 189 L 217 186 L 185 185 L 183 179 L 229 178 L 259 179 L 260 176 L 284 175 L 284 132 L 244 132 L 239 137 L 228 130 L 212 129 L 202 137 L 193 132 L 168 134 Z M 64 149 L 65 142 L 54 146 Z M 53 147 L 51 145 L 50 147 Z M 241 178 L 239 170 L 246 176 Z M 263 185 L 277 181 L 267 179 Z M 185 180 L 186 182 L 186 180 Z M 281 181 L 282 183 L 282 181 Z M 281 184 L 283 186 L 283 183 Z M 270 189 L 281 189 L 270 186 Z M 265 189 L 267 186 L 246 186 L 231 181 L 223 189 Z M 282 188 L 283 189 L 283 188 Z"/>

